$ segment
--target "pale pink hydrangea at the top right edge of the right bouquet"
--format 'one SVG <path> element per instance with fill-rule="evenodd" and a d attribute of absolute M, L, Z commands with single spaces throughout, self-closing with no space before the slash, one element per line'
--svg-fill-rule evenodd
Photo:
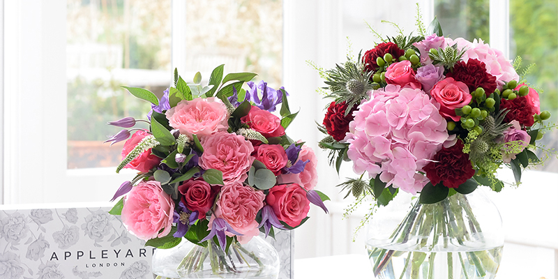
<path fill-rule="evenodd" d="M 458 44 L 460 50 L 464 47 L 467 49 L 461 57 L 463 61 L 467 62 L 469 59 L 478 59 L 485 63 L 486 73 L 496 77 L 499 90 L 502 90 L 504 82 L 519 80 L 519 75 L 511 65 L 511 60 L 506 59 L 501 51 L 490 47 L 483 40 L 475 39 L 473 42 L 469 42 L 464 38 L 457 38 L 455 40 L 446 38 L 446 45 L 451 46 L 455 43 Z"/>

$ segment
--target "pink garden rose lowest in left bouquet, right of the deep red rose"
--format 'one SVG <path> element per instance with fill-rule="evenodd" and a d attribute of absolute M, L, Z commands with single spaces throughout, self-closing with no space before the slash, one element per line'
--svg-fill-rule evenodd
<path fill-rule="evenodd" d="M 264 192 L 239 181 L 229 183 L 221 188 L 215 217 L 225 219 L 236 232 L 243 234 L 236 238 L 246 243 L 259 234 L 256 215 L 264 207 L 265 197 Z"/>

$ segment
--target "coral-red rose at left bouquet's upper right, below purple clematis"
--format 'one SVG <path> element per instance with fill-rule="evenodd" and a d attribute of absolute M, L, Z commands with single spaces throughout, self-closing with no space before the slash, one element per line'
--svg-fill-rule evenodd
<path fill-rule="evenodd" d="M 259 107 L 252 106 L 248 115 L 243 116 L 241 121 L 248 124 L 250 128 L 262 133 L 264 137 L 280 137 L 285 135 L 285 128 L 281 126 L 281 119 Z"/>

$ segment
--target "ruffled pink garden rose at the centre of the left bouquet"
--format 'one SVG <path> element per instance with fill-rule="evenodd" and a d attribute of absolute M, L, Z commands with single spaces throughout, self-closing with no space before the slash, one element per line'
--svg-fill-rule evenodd
<path fill-rule="evenodd" d="M 225 184 L 244 181 L 254 162 L 250 154 L 254 152 L 252 143 L 241 135 L 218 132 L 210 137 L 202 137 L 204 153 L 198 165 L 203 169 L 217 169 L 223 172 Z"/>

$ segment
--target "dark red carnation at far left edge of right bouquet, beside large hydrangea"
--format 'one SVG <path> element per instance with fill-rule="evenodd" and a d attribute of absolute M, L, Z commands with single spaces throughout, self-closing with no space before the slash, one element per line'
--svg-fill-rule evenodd
<path fill-rule="evenodd" d="M 326 117 L 324 118 L 324 126 L 326 126 L 327 133 L 333 137 L 333 140 L 339 142 L 345 138 L 345 134 L 349 132 L 349 122 L 354 119 L 354 110 L 356 110 L 356 105 L 352 107 L 351 112 L 345 116 L 347 103 L 342 102 L 335 104 L 335 102 L 331 102 L 327 108 Z"/>

